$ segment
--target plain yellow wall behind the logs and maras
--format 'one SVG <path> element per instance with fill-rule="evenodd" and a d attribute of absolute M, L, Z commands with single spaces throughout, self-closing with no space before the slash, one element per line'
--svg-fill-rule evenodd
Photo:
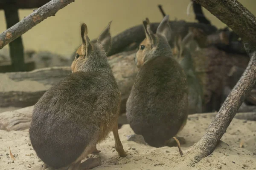
<path fill-rule="evenodd" d="M 113 20 L 111 34 L 114 36 L 129 27 L 141 24 L 145 17 L 151 22 L 160 22 L 163 17 L 157 7 L 158 4 L 161 4 L 166 14 L 170 15 L 170 20 L 177 18 L 194 21 L 192 7 L 190 16 L 186 15 L 189 2 L 190 0 L 76 0 L 57 12 L 55 17 L 47 18 L 22 35 L 24 48 L 70 55 L 80 43 L 81 22 L 87 24 L 89 37 L 92 40 L 110 20 Z M 256 0 L 239 0 L 239 2 L 256 15 Z M 20 20 L 32 11 L 32 9 L 20 10 Z M 204 10 L 204 13 L 215 26 L 225 26 L 207 10 Z M 3 32 L 6 30 L 3 10 L 0 11 L 0 23 L 0 32 Z"/>

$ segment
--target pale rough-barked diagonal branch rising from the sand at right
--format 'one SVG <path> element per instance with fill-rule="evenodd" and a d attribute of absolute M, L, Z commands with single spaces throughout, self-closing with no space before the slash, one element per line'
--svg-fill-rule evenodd
<path fill-rule="evenodd" d="M 244 47 L 250 55 L 250 62 L 236 86 L 230 92 L 230 95 L 224 101 L 204 136 L 192 148 L 195 149 L 194 158 L 197 161 L 212 153 L 236 115 L 244 98 L 256 84 L 256 48 L 250 46 L 248 43 L 245 43 Z"/>

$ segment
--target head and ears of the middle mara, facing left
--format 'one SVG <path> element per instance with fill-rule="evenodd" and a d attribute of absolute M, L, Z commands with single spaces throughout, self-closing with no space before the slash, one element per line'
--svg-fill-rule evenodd
<path fill-rule="evenodd" d="M 151 31 L 148 18 L 143 21 L 143 28 L 146 37 L 140 43 L 139 50 L 136 53 L 135 62 L 138 68 L 147 61 L 150 61 L 152 58 L 172 55 L 172 51 L 168 43 L 171 39 L 172 30 L 169 26 L 168 20 L 169 15 L 166 15 L 157 27 L 156 34 Z"/>

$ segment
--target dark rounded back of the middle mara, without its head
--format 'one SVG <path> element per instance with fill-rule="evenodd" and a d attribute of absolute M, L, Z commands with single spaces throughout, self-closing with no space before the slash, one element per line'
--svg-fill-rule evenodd
<path fill-rule="evenodd" d="M 127 101 L 127 118 L 136 134 L 161 147 L 187 118 L 187 105 L 183 69 L 171 57 L 157 57 L 145 63 L 136 76 Z"/>

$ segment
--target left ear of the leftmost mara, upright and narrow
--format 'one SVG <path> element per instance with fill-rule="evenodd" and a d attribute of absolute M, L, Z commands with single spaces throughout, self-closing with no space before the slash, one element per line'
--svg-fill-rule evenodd
<path fill-rule="evenodd" d="M 91 46 L 90 46 L 90 39 L 87 36 L 88 30 L 87 26 L 85 23 L 81 24 L 81 40 L 82 40 L 82 45 L 81 45 L 81 53 L 84 56 L 87 56 Z"/>

